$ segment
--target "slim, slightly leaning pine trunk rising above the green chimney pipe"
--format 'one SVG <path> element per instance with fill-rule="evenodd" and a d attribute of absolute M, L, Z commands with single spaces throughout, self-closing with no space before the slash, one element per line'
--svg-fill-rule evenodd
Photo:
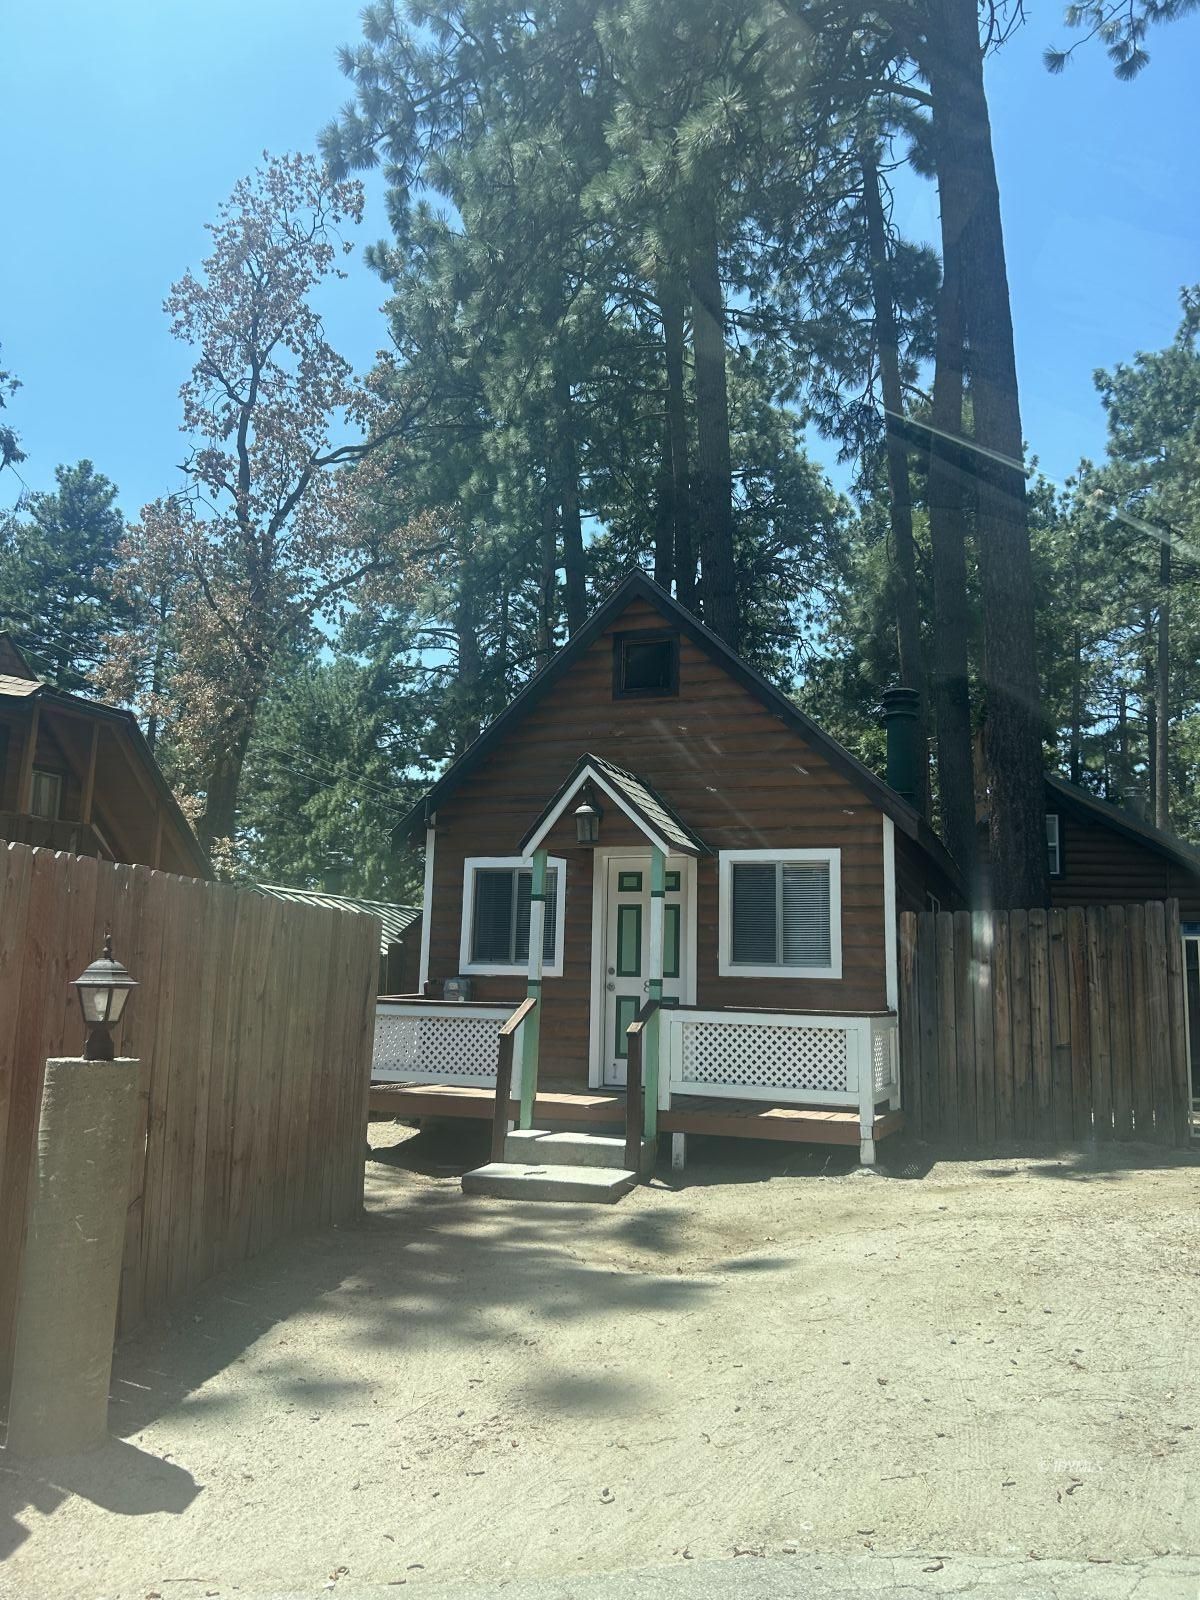
<path fill-rule="evenodd" d="M 925 659 L 922 651 L 920 592 L 917 587 L 917 550 L 912 539 L 912 488 L 909 483 L 909 448 L 904 438 L 904 389 L 901 386 L 899 331 L 891 291 L 891 264 L 883 202 L 878 192 L 878 170 L 870 146 L 862 149 L 862 208 L 867 222 L 870 256 L 870 288 L 875 309 L 875 347 L 878 350 L 880 387 L 883 390 L 883 429 L 888 458 L 888 518 L 891 523 L 891 598 L 896 614 L 896 648 L 901 683 L 917 690 L 917 738 L 920 762 L 917 806 L 930 810 L 930 736 L 925 720 Z"/>

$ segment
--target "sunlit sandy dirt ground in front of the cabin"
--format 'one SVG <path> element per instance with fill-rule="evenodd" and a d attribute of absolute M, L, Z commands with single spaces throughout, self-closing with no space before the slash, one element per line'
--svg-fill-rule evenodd
<path fill-rule="evenodd" d="M 120 1440 L 0 1456 L 0 1594 L 1200 1552 L 1195 1160 L 691 1141 L 592 1208 L 464 1138 L 376 1123 L 360 1226 L 120 1349 Z"/>

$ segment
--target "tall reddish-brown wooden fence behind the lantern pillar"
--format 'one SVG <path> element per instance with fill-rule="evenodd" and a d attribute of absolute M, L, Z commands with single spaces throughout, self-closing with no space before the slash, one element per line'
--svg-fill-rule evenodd
<path fill-rule="evenodd" d="M 379 923 L 195 878 L 0 845 L 0 1402 L 48 1056 L 112 928 L 142 1062 L 120 1331 L 362 1205 Z"/>

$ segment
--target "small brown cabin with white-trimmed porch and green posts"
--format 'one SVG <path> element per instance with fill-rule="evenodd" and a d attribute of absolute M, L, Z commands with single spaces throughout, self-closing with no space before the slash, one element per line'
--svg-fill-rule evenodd
<path fill-rule="evenodd" d="M 870 1162 L 899 1126 L 898 914 L 962 904 L 954 861 L 642 573 L 402 827 L 426 846 L 421 981 L 381 1008 L 374 1077 L 405 1088 L 379 1107 L 491 1115 L 499 1032 L 534 1000 L 522 1128 L 626 1115 L 638 1019 L 648 1136 L 856 1142 Z"/>

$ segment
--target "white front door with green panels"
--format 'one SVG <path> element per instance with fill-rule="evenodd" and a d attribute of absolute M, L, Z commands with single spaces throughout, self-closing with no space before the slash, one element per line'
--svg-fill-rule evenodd
<path fill-rule="evenodd" d="M 598 862 L 597 862 L 598 866 Z M 626 1082 L 626 1029 L 650 997 L 650 854 L 608 856 L 605 862 L 602 1083 Z M 662 901 L 662 1002 L 686 992 L 690 939 L 686 861 L 667 861 Z"/>

